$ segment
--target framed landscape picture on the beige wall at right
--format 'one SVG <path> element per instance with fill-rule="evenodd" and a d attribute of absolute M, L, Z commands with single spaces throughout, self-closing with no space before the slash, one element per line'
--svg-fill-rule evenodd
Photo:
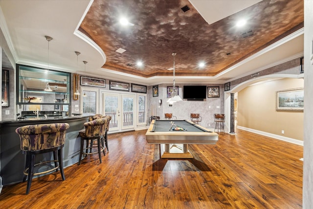
<path fill-rule="evenodd" d="M 277 111 L 303 111 L 303 88 L 281 90 L 276 92 Z"/>

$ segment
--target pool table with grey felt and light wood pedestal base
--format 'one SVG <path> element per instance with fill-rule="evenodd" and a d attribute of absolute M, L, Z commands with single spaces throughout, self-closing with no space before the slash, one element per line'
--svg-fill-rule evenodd
<path fill-rule="evenodd" d="M 176 131 L 176 127 L 180 131 Z M 161 158 L 193 158 L 188 151 L 188 144 L 216 144 L 219 135 L 188 120 L 152 120 L 146 132 L 146 140 L 148 143 L 160 144 Z M 174 151 L 171 151 L 172 148 Z"/>

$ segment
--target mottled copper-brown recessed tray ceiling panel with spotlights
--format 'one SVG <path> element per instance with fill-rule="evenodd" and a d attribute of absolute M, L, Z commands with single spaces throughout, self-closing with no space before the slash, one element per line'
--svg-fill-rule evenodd
<path fill-rule="evenodd" d="M 185 5 L 187 12 L 180 9 Z M 122 26 L 122 16 L 134 25 Z M 248 23 L 238 28 L 242 17 Z M 213 24 L 188 0 L 94 0 L 79 30 L 105 52 L 103 68 L 143 77 L 171 75 L 167 69 L 177 52 L 177 75 L 214 76 L 300 29 L 303 21 L 303 0 L 263 0 Z M 250 30 L 253 35 L 243 38 Z M 126 52 L 115 52 L 120 47 Z M 144 66 L 137 67 L 137 60 Z M 201 61 L 204 68 L 198 67 Z"/>

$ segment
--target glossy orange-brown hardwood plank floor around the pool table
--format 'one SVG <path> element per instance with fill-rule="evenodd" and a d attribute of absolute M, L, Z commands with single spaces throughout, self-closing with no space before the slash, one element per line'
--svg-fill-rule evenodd
<path fill-rule="evenodd" d="M 159 159 L 145 132 L 109 135 L 110 152 L 78 166 L 4 186 L 5 209 L 301 209 L 303 147 L 243 130 L 216 145 L 189 145 L 194 159 Z"/>

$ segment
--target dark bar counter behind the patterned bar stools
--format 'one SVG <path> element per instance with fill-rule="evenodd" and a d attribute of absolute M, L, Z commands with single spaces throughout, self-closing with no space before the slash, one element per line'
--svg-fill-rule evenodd
<path fill-rule="evenodd" d="M 67 129 L 63 148 L 63 165 L 67 167 L 79 160 L 80 138 L 78 132 L 84 128 L 84 123 L 88 121 L 89 116 L 92 115 L 35 117 L 0 121 L 0 190 L 2 185 L 22 182 L 23 179 L 26 155 L 22 154 L 20 137 L 15 133 L 15 129 L 24 125 L 68 123 L 69 129 Z M 40 159 L 40 157 L 42 158 Z M 43 156 L 36 156 L 36 162 L 37 160 L 52 158 L 51 153 L 46 153 Z"/>

